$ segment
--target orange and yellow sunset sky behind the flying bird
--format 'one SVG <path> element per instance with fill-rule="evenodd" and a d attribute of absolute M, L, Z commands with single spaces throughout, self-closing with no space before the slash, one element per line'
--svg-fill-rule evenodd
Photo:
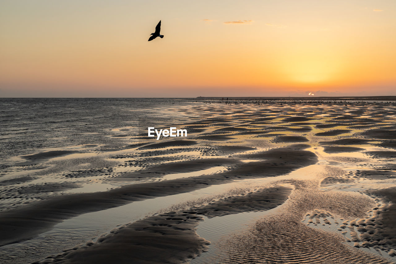
<path fill-rule="evenodd" d="M 0 0 L 0 97 L 396 96 L 395 47 L 395 0 Z"/>

